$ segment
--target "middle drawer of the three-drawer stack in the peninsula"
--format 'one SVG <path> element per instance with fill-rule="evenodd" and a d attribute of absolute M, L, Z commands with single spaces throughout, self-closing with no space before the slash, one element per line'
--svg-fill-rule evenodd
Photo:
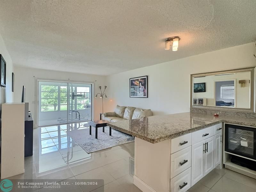
<path fill-rule="evenodd" d="M 191 146 L 171 154 L 171 178 L 191 167 Z"/>

